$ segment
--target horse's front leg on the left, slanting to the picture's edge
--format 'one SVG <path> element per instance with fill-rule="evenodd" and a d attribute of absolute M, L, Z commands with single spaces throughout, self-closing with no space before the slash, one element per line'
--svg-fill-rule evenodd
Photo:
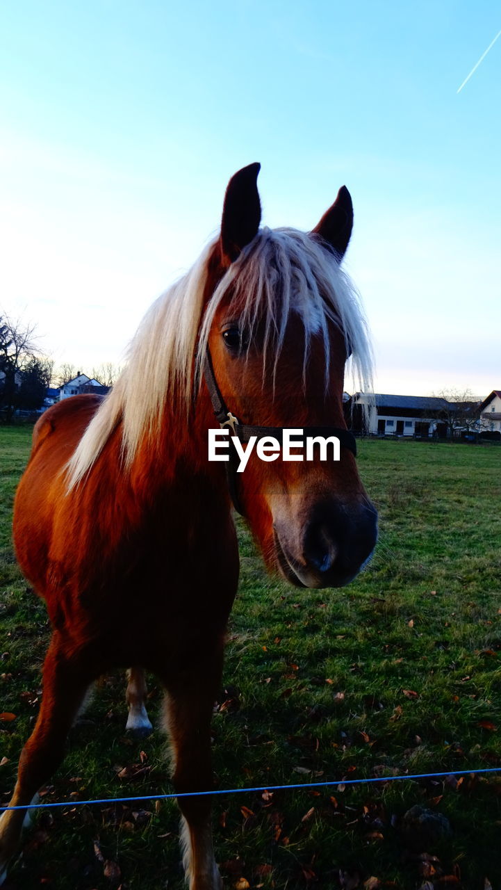
<path fill-rule="evenodd" d="M 48 781 L 64 754 L 64 743 L 93 676 L 79 659 L 69 659 L 53 636 L 44 661 L 44 694 L 35 729 L 22 749 L 18 780 L 9 806 L 26 806 Z M 0 819 L 0 884 L 15 853 L 26 809 L 6 810 Z"/>

